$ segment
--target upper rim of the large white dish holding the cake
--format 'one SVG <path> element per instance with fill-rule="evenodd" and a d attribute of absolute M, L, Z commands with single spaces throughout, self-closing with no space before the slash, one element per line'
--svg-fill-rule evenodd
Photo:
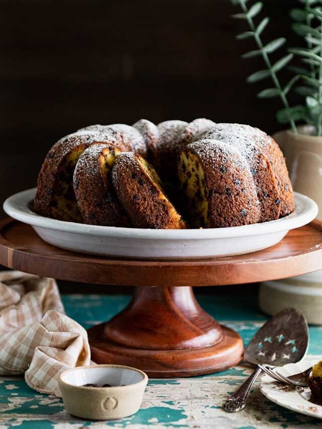
<path fill-rule="evenodd" d="M 88 225 L 75 222 L 51 219 L 40 216 L 28 207 L 35 196 L 36 188 L 18 192 L 4 202 L 4 211 L 12 218 L 32 226 L 53 229 L 57 231 L 81 234 L 110 236 L 119 238 L 144 238 L 157 240 L 196 240 L 214 238 L 237 238 L 273 232 L 288 231 L 306 225 L 312 221 L 318 212 L 317 204 L 309 197 L 294 192 L 295 211 L 288 216 L 270 222 L 252 225 L 241 225 L 227 228 L 207 229 L 144 229 L 121 228 L 115 226 Z M 298 209 L 299 207 L 299 209 Z M 298 211 L 299 210 L 299 211 Z"/>

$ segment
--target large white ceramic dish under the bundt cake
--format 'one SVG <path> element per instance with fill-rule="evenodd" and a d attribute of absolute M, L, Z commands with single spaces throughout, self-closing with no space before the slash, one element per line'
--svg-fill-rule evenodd
<path fill-rule="evenodd" d="M 68 250 L 131 259 L 211 258 L 245 254 L 278 243 L 290 229 L 317 215 L 317 205 L 295 193 L 295 211 L 255 225 L 210 229 L 141 229 L 85 225 L 39 216 L 30 210 L 35 189 L 19 192 L 4 203 L 5 212 L 33 226 L 47 243 Z"/>

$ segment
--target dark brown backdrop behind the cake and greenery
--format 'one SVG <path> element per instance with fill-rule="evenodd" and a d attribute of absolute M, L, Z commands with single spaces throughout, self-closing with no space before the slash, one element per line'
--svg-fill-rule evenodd
<path fill-rule="evenodd" d="M 264 3 L 265 41 L 296 45 L 296 1 Z M 2 0 L 0 202 L 35 186 L 50 146 L 85 125 L 208 117 L 277 130 L 278 100 L 256 98 L 270 83 L 245 83 L 263 65 L 240 59 L 255 46 L 235 40 L 248 29 L 238 12 L 229 0 Z"/>

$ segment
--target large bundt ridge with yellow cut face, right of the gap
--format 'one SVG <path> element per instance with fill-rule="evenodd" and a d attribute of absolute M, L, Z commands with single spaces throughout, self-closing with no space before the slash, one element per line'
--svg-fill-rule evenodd
<path fill-rule="evenodd" d="M 218 228 L 259 221 L 252 174 L 233 147 L 212 139 L 189 144 L 179 158 L 179 178 L 186 194 L 195 188 L 194 197 L 188 198 L 195 226 Z"/>

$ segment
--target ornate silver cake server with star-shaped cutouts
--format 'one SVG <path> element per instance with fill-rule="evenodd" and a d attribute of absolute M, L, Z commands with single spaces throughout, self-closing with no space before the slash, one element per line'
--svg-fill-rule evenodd
<path fill-rule="evenodd" d="M 308 327 L 303 314 L 286 308 L 268 320 L 253 336 L 245 350 L 244 360 L 253 365 L 283 366 L 299 362 L 308 348 Z M 257 366 L 253 374 L 223 404 L 223 409 L 243 409 L 251 388 L 262 372 Z"/>

